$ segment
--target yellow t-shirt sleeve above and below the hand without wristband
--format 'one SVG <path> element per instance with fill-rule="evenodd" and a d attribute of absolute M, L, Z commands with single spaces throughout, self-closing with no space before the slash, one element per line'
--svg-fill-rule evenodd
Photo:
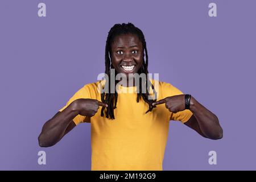
<path fill-rule="evenodd" d="M 59 111 L 63 111 L 69 106 L 69 104 L 71 104 L 73 101 L 79 98 L 90 98 L 90 94 L 86 86 L 79 89 L 71 98 L 69 98 L 67 104 L 64 107 L 62 107 Z M 85 122 L 85 117 L 79 114 L 73 119 L 73 121 L 76 123 L 76 125 L 79 125 L 79 123 Z"/>

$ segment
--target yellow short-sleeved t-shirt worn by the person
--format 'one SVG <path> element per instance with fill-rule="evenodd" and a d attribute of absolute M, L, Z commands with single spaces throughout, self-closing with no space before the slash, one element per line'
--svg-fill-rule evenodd
<path fill-rule="evenodd" d="M 99 82 L 86 84 L 78 90 L 60 111 L 78 98 L 101 101 L 97 90 Z M 121 86 L 121 88 L 123 88 Z M 159 81 L 158 99 L 183 94 L 179 89 Z M 101 117 L 101 107 L 90 118 L 92 144 L 92 170 L 162 170 L 169 121 L 187 122 L 190 110 L 171 113 L 165 105 L 157 105 L 148 112 L 148 104 L 136 93 L 119 93 L 115 119 Z M 77 115 L 78 125 L 85 117 Z"/>

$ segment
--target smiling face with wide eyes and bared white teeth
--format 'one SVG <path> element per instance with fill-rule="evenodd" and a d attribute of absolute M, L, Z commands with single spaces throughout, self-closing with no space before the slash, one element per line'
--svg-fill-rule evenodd
<path fill-rule="evenodd" d="M 142 42 L 137 35 L 125 34 L 115 37 L 111 45 L 112 65 L 117 73 L 137 73 L 143 62 Z"/>

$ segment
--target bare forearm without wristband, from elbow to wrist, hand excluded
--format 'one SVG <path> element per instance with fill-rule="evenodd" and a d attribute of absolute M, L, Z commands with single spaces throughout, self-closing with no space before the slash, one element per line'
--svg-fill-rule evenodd
<path fill-rule="evenodd" d="M 53 146 L 64 136 L 65 130 L 78 114 L 75 104 L 75 102 L 72 102 L 71 105 L 44 124 L 38 137 L 41 147 Z"/>

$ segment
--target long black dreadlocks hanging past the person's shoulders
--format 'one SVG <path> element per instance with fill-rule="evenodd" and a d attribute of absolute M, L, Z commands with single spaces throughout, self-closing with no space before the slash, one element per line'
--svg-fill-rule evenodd
<path fill-rule="evenodd" d="M 141 40 L 142 42 L 142 46 L 143 46 L 143 63 L 142 63 L 142 67 L 139 69 L 138 74 L 144 73 L 146 75 L 146 83 L 142 83 L 142 81 L 139 81 L 139 92 L 137 93 L 137 102 L 139 102 L 139 100 L 141 99 L 141 97 L 143 98 L 143 100 L 148 104 L 148 110 L 146 111 L 146 113 L 148 111 L 152 111 L 152 109 L 155 106 L 152 106 L 152 103 L 154 101 L 156 101 L 156 92 L 154 89 L 154 85 L 151 84 L 150 81 L 148 81 L 148 70 L 147 70 L 147 66 L 148 66 L 148 54 L 147 54 L 147 46 L 146 46 L 146 41 L 143 35 L 143 32 L 134 26 L 133 23 L 122 23 L 122 24 L 115 24 L 109 31 L 108 34 L 108 38 L 106 40 L 106 48 L 105 48 L 105 73 L 106 75 L 109 76 L 110 78 L 110 68 L 113 68 L 113 65 L 110 62 L 110 55 L 111 55 L 111 45 L 113 43 L 113 40 L 115 37 L 117 37 L 118 35 L 123 35 L 123 34 L 133 34 L 133 35 L 137 35 L 139 40 Z M 144 53 L 145 52 L 145 53 Z M 146 55 L 146 61 L 144 60 L 144 56 Z M 110 85 L 110 81 L 109 80 L 109 85 Z M 141 79 L 142 80 L 142 79 Z M 146 89 L 146 93 L 142 93 L 142 84 L 146 85 L 146 88 L 148 88 L 147 83 L 149 83 L 152 87 L 152 90 L 155 94 L 155 98 L 153 100 L 148 100 L 148 96 L 150 95 L 148 93 L 148 89 Z M 116 85 L 116 83 L 115 83 Z M 115 90 L 115 93 L 110 93 L 110 86 L 109 86 L 109 92 L 108 93 L 102 93 L 101 94 L 101 101 L 105 104 L 108 104 L 108 107 L 106 108 L 106 118 L 110 119 L 114 119 L 114 109 L 117 108 L 117 91 Z M 104 116 L 104 109 L 105 107 L 102 107 L 101 109 L 101 116 Z"/>

